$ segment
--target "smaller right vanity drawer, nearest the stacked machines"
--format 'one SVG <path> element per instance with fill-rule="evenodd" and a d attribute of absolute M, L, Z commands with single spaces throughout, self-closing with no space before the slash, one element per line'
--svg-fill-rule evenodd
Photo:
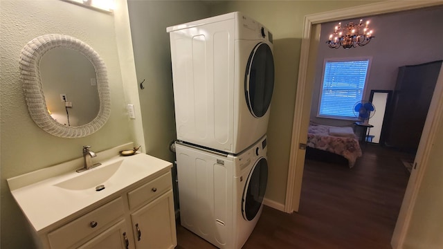
<path fill-rule="evenodd" d="M 172 176 L 171 172 L 168 172 L 167 174 L 159 176 L 159 178 L 156 178 L 153 181 L 150 181 L 149 183 L 146 183 L 145 185 L 142 185 L 141 187 L 129 192 L 127 194 L 129 208 L 132 210 L 143 203 L 152 201 L 171 188 Z"/>

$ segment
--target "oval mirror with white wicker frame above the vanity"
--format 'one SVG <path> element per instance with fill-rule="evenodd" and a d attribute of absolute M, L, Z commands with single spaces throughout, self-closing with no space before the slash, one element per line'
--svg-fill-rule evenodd
<path fill-rule="evenodd" d="M 106 66 L 88 44 L 67 35 L 43 35 L 21 50 L 20 74 L 34 122 L 61 138 L 81 138 L 109 118 Z"/>

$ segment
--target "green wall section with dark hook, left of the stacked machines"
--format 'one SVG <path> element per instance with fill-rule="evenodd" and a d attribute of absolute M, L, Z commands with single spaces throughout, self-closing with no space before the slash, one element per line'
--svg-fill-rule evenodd
<path fill-rule="evenodd" d="M 176 139 L 168 26 L 209 17 L 201 1 L 128 1 L 147 154 L 174 161 Z"/>

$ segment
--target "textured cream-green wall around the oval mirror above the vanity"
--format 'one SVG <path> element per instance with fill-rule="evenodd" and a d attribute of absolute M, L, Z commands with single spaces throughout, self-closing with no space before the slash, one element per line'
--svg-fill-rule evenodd
<path fill-rule="evenodd" d="M 128 128 L 114 17 L 60 0 L 0 1 L 1 56 L 1 248 L 33 248 L 27 223 L 6 179 L 82 156 L 82 145 L 102 151 L 134 140 Z M 85 138 L 57 138 L 28 114 L 19 81 L 19 55 L 31 39 L 60 33 L 81 39 L 104 60 L 111 89 L 111 116 Z"/>

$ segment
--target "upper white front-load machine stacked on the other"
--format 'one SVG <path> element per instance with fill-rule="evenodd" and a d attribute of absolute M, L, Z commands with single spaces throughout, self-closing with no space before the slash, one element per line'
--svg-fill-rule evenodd
<path fill-rule="evenodd" d="M 167 30 L 177 139 L 238 154 L 264 136 L 274 84 L 269 30 L 240 12 Z"/>

